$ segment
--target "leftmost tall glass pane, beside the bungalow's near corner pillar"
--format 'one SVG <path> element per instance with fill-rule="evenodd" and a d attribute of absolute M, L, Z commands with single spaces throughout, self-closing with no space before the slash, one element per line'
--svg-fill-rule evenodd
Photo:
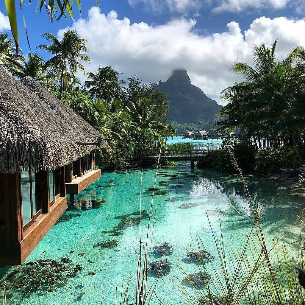
<path fill-rule="evenodd" d="M 20 176 L 21 176 L 20 184 L 21 184 L 22 219 L 24 226 L 30 220 L 32 220 L 30 173 L 29 171 L 21 172 Z"/>

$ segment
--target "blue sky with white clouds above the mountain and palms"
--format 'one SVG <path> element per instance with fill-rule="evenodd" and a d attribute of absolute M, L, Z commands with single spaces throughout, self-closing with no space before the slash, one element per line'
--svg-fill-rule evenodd
<path fill-rule="evenodd" d="M 35 1 L 26 2 L 18 12 L 23 53 L 29 48 L 22 14 L 33 52 L 46 42 L 42 33 L 75 28 L 88 40 L 87 71 L 111 65 L 124 78 L 137 74 L 144 82 L 158 82 L 185 68 L 195 85 L 222 104 L 220 90 L 237 80 L 231 65 L 251 62 L 254 44 L 278 39 L 279 58 L 305 45 L 303 0 L 99 0 L 100 9 L 91 8 L 95 0 L 83 0 L 81 17 L 75 8 L 74 20 L 53 24 L 44 9 L 35 12 Z M 7 31 L 4 1 L 0 12 L 0 31 Z"/>

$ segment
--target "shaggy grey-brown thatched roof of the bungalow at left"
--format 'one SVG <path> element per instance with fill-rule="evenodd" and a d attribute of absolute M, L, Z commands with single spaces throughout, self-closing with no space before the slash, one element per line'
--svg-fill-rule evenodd
<path fill-rule="evenodd" d="M 0 69 L 0 173 L 20 166 L 53 170 L 88 154 L 101 134 L 26 77 L 22 83 Z"/>

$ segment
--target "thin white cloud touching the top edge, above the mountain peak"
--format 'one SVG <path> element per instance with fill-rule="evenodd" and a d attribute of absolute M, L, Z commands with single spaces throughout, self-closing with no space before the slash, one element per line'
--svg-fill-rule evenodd
<path fill-rule="evenodd" d="M 199 9 L 202 5 L 200 0 L 128 0 L 131 6 L 143 3 L 146 9 L 156 13 L 169 9 L 171 12 L 185 13 L 186 11 Z"/>

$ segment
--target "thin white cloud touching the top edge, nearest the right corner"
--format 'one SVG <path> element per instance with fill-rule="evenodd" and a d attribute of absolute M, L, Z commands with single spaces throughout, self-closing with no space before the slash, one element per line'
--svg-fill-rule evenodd
<path fill-rule="evenodd" d="M 284 9 L 293 0 L 216 0 L 213 12 L 239 13 L 249 9 Z"/>

